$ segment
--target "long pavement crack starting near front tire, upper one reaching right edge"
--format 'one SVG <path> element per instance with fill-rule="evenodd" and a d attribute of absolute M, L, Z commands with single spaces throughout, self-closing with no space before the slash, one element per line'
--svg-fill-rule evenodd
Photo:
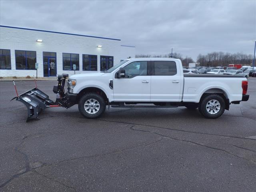
<path fill-rule="evenodd" d="M 105 121 L 105 122 L 114 122 L 114 123 L 130 124 L 130 125 L 135 125 L 135 126 L 147 126 L 147 127 L 154 127 L 154 128 L 160 128 L 160 129 L 166 129 L 166 130 L 173 130 L 173 131 L 181 131 L 181 132 L 194 133 L 194 134 L 204 134 L 204 135 L 214 135 L 214 136 L 222 136 L 222 137 L 228 137 L 228 138 L 256 140 L 256 139 L 252 139 L 252 138 L 244 138 L 244 137 L 220 135 L 220 134 L 213 134 L 213 133 L 203 133 L 203 132 L 196 132 L 196 131 L 186 131 L 186 130 L 182 130 L 182 129 L 165 128 L 165 127 L 160 127 L 160 126 L 155 126 L 155 125 L 145 125 L 145 124 L 136 124 L 136 123 L 129 123 L 129 122 L 110 121 L 110 120 L 104 120 L 104 119 L 95 119 L 95 120 L 98 120 L 98 121 Z"/>

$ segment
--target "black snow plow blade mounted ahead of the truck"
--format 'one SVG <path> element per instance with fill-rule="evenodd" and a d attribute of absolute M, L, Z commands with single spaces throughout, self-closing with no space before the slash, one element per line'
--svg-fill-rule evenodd
<path fill-rule="evenodd" d="M 24 103 L 27 107 L 28 118 L 26 122 L 28 122 L 30 119 L 37 119 L 41 110 L 44 110 L 48 102 L 51 101 L 49 100 L 49 96 L 38 88 L 28 90 L 19 96 L 12 98 L 12 100 L 14 99 Z"/>

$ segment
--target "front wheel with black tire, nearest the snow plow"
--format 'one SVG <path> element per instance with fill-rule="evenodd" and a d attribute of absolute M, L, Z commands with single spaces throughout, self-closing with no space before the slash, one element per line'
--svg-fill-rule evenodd
<path fill-rule="evenodd" d="M 90 103 L 88 103 L 88 109 L 86 111 L 85 109 L 85 102 L 87 102 L 88 100 L 90 100 Z M 96 100 L 97 102 L 92 102 Z M 94 109 L 90 109 L 89 105 L 92 103 L 92 108 Z M 95 104 L 95 106 L 93 105 Z M 98 105 L 97 105 L 98 104 Z M 82 114 L 82 116 L 89 118 L 89 119 L 94 119 L 94 118 L 98 118 L 102 115 L 102 113 L 104 113 L 104 111 L 106 110 L 106 103 L 104 101 L 104 98 L 96 93 L 87 93 L 84 96 L 82 96 L 78 102 L 78 109 L 80 111 L 80 113 Z M 93 112 L 93 114 L 91 113 Z"/>

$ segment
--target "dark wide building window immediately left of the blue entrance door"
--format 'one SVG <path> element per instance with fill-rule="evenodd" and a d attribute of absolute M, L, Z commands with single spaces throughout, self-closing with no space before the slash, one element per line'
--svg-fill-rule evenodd
<path fill-rule="evenodd" d="M 15 50 L 16 69 L 36 69 L 36 52 Z"/>

